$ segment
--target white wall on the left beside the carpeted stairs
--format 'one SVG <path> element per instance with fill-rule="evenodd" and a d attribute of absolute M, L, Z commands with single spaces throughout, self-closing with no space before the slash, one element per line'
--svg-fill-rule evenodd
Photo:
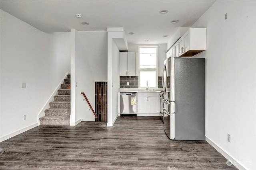
<path fill-rule="evenodd" d="M 2 10 L 0 34 L 2 141 L 38 125 L 40 110 L 70 70 L 70 59 L 63 55 L 69 51 L 62 49 L 64 43 L 55 44 L 66 35 L 44 33 Z"/>

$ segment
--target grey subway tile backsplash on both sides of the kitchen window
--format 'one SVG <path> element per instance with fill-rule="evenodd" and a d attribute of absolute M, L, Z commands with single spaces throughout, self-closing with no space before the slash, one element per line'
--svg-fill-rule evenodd
<path fill-rule="evenodd" d="M 129 82 L 129 86 L 127 86 Z M 139 77 L 138 76 L 120 76 L 120 88 L 139 88 Z M 158 77 L 158 88 L 162 86 L 162 76 Z"/>

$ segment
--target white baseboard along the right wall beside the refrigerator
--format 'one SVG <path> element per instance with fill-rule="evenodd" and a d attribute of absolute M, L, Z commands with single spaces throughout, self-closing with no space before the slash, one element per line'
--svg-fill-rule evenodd
<path fill-rule="evenodd" d="M 208 142 L 210 145 L 212 145 L 212 147 L 214 147 L 214 149 L 218 150 L 218 152 L 220 152 L 220 154 L 222 154 L 227 160 L 229 160 L 230 162 L 232 162 L 232 164 L 234 166 L 236 166 L 236 168 L 238 168 L 239 170 L 246 170 L 246 168 L 244 168 L 241 164 L 239 164 L 234 158 L 232 158 L 228 153 L 226 153 L 223 149 L 221 149 L 218 145 L 216 145 L 212 140 L 210 140 L 208 137 L 205 137 L 206 142 Z"/>

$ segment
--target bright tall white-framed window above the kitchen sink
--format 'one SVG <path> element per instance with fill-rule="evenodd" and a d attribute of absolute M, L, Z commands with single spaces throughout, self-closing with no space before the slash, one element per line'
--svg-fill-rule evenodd
<path fill-rule="evenodd" d="M 158 88 L 158 47 L 139 47 L 139 88 Z"/>

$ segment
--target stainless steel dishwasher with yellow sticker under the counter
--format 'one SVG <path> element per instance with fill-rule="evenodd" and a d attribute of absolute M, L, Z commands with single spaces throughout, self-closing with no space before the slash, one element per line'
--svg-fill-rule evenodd
<path fill-rule="evenodd" d="M 137 93 L 120 93 L 120 114 L 137 115 Z"/>

